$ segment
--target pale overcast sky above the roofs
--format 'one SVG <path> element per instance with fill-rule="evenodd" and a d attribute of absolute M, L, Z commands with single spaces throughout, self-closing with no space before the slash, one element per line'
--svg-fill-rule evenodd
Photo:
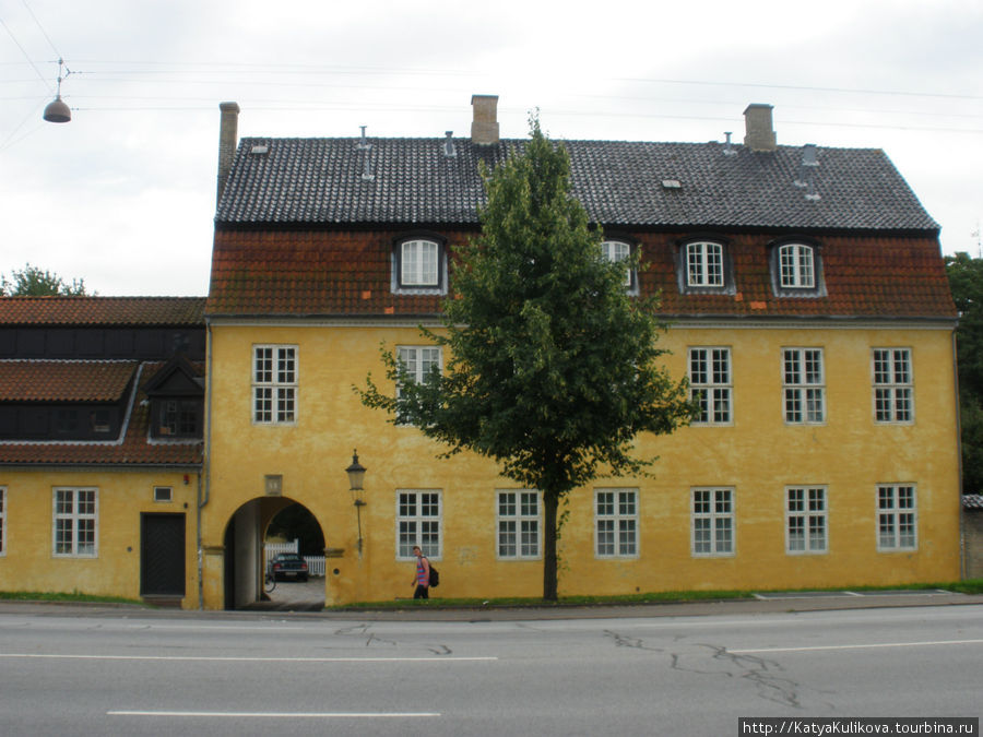
<path fill-rule="evenodd" d="M 578 10 L 579 8 L 579 10 Z M 884 148 L 980 255 L 983 1 L 0 0 L 0 272 L 100 295 L 208 293 L 218 103 L 239 135 L 744 138 Z M 42 121 L 57 59 L 72 121 Z"/>

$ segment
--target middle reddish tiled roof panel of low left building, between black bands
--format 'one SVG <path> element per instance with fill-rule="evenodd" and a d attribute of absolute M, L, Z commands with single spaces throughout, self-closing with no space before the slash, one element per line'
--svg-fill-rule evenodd
<path fill-rule="evenodd" d="M 0 402 L 116 402 L 135 361 L 0 360 Z"/>

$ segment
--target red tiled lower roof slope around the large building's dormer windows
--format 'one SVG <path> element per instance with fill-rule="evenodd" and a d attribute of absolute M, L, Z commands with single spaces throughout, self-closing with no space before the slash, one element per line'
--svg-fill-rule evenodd
<path fill-rule="evenodd" d="M 436 296 L 390 287 L 394 239 L 408 230 L 215 231 L 206 312 L 224 316 L 410 316 L 439 310 Z M 475 235 L 443 230 L 450 243 Z M 818 241 L 826 296 L 777 296 L 768 262 L 773 234 L 715 234 L 727 242 L 736 294 L 680 294 L 674 263 L 687 233 L 633 233 L 643 294 L 672 316 L 955 318 L 934 235 L 829 235 Z"/>

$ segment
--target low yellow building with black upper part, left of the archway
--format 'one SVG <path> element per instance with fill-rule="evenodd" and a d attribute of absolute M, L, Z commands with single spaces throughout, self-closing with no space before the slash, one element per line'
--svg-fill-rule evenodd
<path fill-rule="evenodd" d="M 203 309 L 0 299 L 0 591 L 199 605 Z"/>

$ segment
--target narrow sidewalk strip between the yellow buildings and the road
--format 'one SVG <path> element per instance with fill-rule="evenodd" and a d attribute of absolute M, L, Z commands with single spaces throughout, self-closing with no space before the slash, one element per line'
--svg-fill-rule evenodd
<path fill-rule="evenodd" d="M 291 611 L 252 609 L 208 611 L 153 609 L 132 604 L 75 604 L 60 602 L 0 601 L 0 616 L 140 617 L 145 619 L 297 619 L 357 621 L 525 621 L 546 619 L 617 619 L 642 617 L 753 616 L 777 613 L 876 609 L 897 607 L 958 606 L 983 604 L 983 594 L 946 591 L 878 592 L 769 592 L 748 599 L 678 602 L 628 605 L 557 607 L 448 607 L 406 609 L 346 609 L 343 611 Z"/>

